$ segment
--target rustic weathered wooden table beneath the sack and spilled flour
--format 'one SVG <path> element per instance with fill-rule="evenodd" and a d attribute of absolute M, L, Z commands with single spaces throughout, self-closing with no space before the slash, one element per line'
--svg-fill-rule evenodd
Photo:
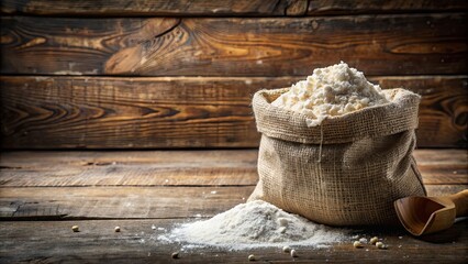
<path fill-rule="evenodd" d="M 430 195 L 467 188 L 465 150 L 415 151 Z M 468 223 L 416 239 L 402 229 L 356 230 L 385 239 L 388 250 L 278 248 L 181 252 L 156 240 L 160 230 L 210 218 L 244 202 L 257 182 L 257 151 L 3 152 L 0 155 L 1 263 L 467 263 Z M 80 232 L 73 232 L 71 226 Z M 114 227 L 122 231 L 114 232 Z"/>

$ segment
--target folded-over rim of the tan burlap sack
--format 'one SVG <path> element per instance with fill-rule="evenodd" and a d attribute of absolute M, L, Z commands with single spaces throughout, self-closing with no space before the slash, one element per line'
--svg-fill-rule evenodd
<path fill-rule="evenodd" d="M 305 122 L 307 116 L 271 106 L 276 98 L 289 89 L 264 89 L 254 95 L 257 130 L 263 134 L 304 144 L 333 144 L 385 136 L 417 128 L 421 97 L 402 88 L 383 90 L 391 99 L 388 103 L 331 117 L 321 125 L 310 128 Z"/>

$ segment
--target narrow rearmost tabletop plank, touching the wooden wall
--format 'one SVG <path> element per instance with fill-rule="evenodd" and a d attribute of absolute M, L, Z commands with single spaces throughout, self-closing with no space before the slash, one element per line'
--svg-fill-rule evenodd
<path fill-rule="evenodd" d="M 456 148 L 417 148 L 413 156 L 419 165 L 467 165 L 468 152 Z M 256 164 L 257 148 L 246 150 L 165 150 L 165 151 L 3 151 L 0 166 L 54 166 L 54 165 L 108 165 L 118 164 L 191 164 L 191 166 L 216 166 Z M 88 164 L 92 163 L 92 164 Z M 467 165 L 468 166 L 468 165 Z"/>

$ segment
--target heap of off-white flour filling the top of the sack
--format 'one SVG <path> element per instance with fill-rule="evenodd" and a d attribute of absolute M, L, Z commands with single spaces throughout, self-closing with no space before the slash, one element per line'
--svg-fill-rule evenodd
<path fill-rule="evenodd" d="M 378 85 L 370 84 L 361 72 L 342 62 L 314 69 L 271 105 L 303 113 L 308 117 L 308 127 L 315 127 L 328 117 L 386 102 L 388 99 Z"/>

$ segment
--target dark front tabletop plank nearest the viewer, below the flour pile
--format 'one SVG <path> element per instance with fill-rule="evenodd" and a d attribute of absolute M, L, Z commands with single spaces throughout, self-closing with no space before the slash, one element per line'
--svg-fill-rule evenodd
<path fill-rule="evenodd" d="M 185 245 L 161 243 L 152 224 L 170 230 L 181 220 L 100 220 L 100 221 L 22 221 L 0 222 L 0 262 L 2 263 L 247 263 L 252 253 L 259 263 L 466 263 L 468 256 L 468 221 L 458 222 L 449 230 L 425 238 L 413 238 L 401 229 L 367 229 L 354 231 L 371 238 L 378 235 L 388 250 L 369 246 L 356 250 L 347 235 L 343 243 L 331 248 L 298 246 L 299 257 L 281 252 L 281 246 L 250 251 L 227 251 L 202 248 L 172 252 Z M 70 230 L 73 224 L 80 232 Z M 115 226 L 120 233 L 113 232 Z M 32 250 L 34 249 L 34 250 Z M 257 263 L 258 263 L 257 262 Z"/>

